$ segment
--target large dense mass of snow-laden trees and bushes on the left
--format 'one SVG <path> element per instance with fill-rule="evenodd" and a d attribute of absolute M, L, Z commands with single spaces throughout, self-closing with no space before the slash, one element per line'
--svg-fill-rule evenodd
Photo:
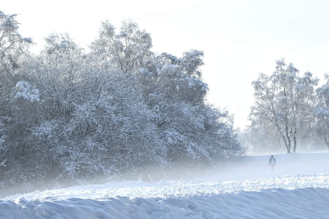
<path fill-rule="evenodd" d="M 136 23 L 106 21 L 89 53 L 51 34 L 35 55 L 15 15 L 0 22 L 1 189 L 245 155 L 228 112 L 205 101 L 202 51 L 156 55 Z"/>

